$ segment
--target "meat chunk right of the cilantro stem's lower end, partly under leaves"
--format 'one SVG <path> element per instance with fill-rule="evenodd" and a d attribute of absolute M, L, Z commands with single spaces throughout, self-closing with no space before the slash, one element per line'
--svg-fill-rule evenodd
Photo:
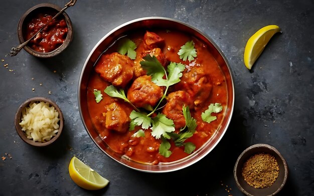
<path fill-rule="evenodd" d="M 184 105 L 193 108 L 193 100 L 185 91 L 175 91 L 168 95 L 167 104 L 163 108 L 163 113 L 175 123 L 175 128 L 181 128 L 186 125 L 182 108 Z"/>

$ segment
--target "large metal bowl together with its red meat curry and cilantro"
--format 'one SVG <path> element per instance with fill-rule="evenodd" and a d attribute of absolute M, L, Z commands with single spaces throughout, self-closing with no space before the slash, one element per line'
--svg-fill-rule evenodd
<path fill-rule="evenodd" d="M 146 19 L 118 27 L 93 49 L 80 78 L 80 112 L 108 156 L 137 170 L 165 172 L 216 146 L 231 119 L 233 83 L 207 38 L 180 30 L 187 26 L 177 21 L 154 28 L 165 19 Z"/>

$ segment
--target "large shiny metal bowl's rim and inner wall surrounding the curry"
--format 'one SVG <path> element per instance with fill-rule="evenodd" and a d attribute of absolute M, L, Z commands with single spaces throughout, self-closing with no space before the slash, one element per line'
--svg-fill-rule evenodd
<path fill-rule="evenodd" d="M 216 59 L 218 65 L 220 66 L 222 72 L 225 75 L 226 84 L 227 84 L 227 111 L 225 113 L 225 117 L 222 121 L 221 126 L 218 128 L 216 133 L 212 136 L 212 138 L 207 141 L 201 148 L 199 148 L 196 152 L 190 154 L 188 157 L 180 159 L 178 161 L 163 163 L 158 165 L 149 165 L 143 164 L 139 162 L 135 162 L 129 159 L 122 157 L 120 154 L 114 152 L 108 145 L 101 139 L 95 128 L 93 127 L 91 118 L 89 116 L 88 107 L 87 107 L 87 84 L 89 81 L 90 74 L 92 72 L 93 66 L 95 65 L 99 56 L 110 46 L 112 45 L 117 38 L 121 35 L 126 35 L 127 32 L 131 32 L 134 30 L 143 30 L 143 29 L 165 29 L 165 30 L 179 30 L 186 34 L 193 35 L 206 43 L 210 48 L 210 52 L 213 54 L 213 57 Z M 231 120 L 233 106 L 234 106 L 234 86 L 232 80 L 232 74 L 228 65 L 228 62 L 223 55 L 222 51 L 217 47 L 217 45 L 204 33 L 197 30 L 196 28 L 187 25 L 183 22 L 162 18 L 162 17 L 148 17 L 148 18 L 140 18 L 125 24 L 118 26 L 117 28 L 110 31 L 107 35 L 105 35 L 93 48 L 89 56 L 87 57 L 85 64 L 82 68 L 79 85 L 78 85 L 78 103 L 79 103 L 79 111 L 81 115 L 81 119 L 83 124 L 92 138 L 94 143 L 109 157 L 113 160 L 125 165 L 129 168 L 144 171 L 144 172 L 153 172 L 153 173 L 161 173 L 161 172 L 169 172 L 175 171 L 182 168 L 185 168 L 193 163 L 199 161 L 204 156 L 206 156 L 221 140 L 223 135 L 225 134 L 228 125 Z"/>

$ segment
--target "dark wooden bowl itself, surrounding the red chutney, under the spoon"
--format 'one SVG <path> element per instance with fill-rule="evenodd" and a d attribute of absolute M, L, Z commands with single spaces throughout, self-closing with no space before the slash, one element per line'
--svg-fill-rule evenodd
<path fill-rule="evenodd" d="M 18 25 L 18 37 L 19 37 L 19 41 L 20 43 L 24 43 L 25 40 L 25 29 L 26 29 L 26 25 L 28 23 L 28 21 L 30 21 L 36 14 L 38 13 L 51 13 L 52 16 L 55 16 L 59 11 L 61 11 L 62 8 L 60 8 L 59 6 L 56 6 L 54 4 L 39 4 L 36 5 L 32 8 L 30 8 L 20 19 L 19 21 L 19 25 Z M 68 34 L 67 37 L 64 41 L 64 43 L 59 46 L 59 48 L 55 49 L 54 51 L 51 52 L 47 52 L 47 53 L 43 53 L 43 52 L 37 52 L 35 50 L 33 50 L 31 47 L 29 46 L 25 46 L 24 50 L 26 50 L 26 52 L 28 52 L 29 54 L 35 56 L 35 57 L 39 57 L 39 58 L 50 58 L 50 57 L 54 57 L 58 54 L 60 54 L 62 51 L 64 51 L 72 42 L 73 39 L 73 28 L 72 28 L 72 22 L 70 20 L 70 17 L 65 13 L 61 13 L 58 18 L 63 18 L 67 24 L 68 27 Z M 57 19 L 58 19 L 57 18 Z"/>

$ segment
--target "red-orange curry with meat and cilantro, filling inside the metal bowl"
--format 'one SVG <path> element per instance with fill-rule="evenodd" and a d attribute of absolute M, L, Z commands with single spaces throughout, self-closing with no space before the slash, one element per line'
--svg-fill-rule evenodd
<path fill-rule="evenodd" d="M 178 54 L 186 43 L 190 48 L 185 50 L 195 54 L 188 57 L 191 61 Z M 135 50 L 116 52 L 131 44 Z M 226 93 L 224 75 L 206 45 L 180 32 L 159 30 L 121 38 L 103 53 L 87 99 L 93 124 L 110 148 L 158 164 L 188 156 L 213 135 L 224 116 Z"/>

